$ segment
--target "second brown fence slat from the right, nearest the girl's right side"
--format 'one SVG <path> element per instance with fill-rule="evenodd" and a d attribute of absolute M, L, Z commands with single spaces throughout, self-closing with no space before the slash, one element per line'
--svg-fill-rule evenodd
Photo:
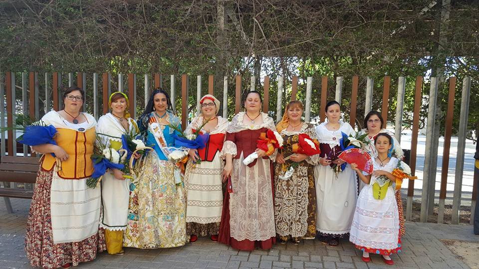
<path fill-rule="evenodd" d="M 418 149 L 419 136 L 419 118 L 421 111 L 423 91 L 423 77 L 416 77 L 416 87 L 414 94 L 414 114 L 413 114 L 413 133 L 411 136 L 411 157 L 409 158 L 409 166 L 411 167 L 411 175 L 416 174 L 416 157 Z M 408 181 L 408 200 L 406 205 L 406 220 L 410 221 L 413 215 L 413 196 L 414 196 L 414 180 Z"/>

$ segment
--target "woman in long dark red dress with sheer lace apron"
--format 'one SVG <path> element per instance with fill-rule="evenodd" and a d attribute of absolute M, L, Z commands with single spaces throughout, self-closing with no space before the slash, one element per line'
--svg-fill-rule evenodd
<path fill-rule="evenodd" d="M 256 140 L 268 129 L 276 131 L 273 119 L 261 113 L 261 95 L 246 94 L 244 108 L 230 123 L 223 145 L 226 158 L 224 180 L 231 175 L 231 190 L 226 192 L 219 241 L 242 251 L 255 247 L 270 249 L 275 243 L 271 160 L 256 148 Z M 258 158 L 248 165 L 243 159 L 256 151 Z"/>

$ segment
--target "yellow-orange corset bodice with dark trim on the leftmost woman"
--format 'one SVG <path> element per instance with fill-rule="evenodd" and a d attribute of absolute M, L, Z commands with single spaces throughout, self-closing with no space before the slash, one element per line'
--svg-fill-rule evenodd
<path fill-rule="evenodd" d="M 93 173 L 93 145 L 95 143 L 95 128 L 84 133 L 71 129 L 57 128 L 56 143 L 68 154 L 68 159 L 61 162 L 58 176 L 64 179 L 81 179 Z M 51 154 L 45 154 L 41 167 L 45 170 L 53 169 L 56 159 Z"/>

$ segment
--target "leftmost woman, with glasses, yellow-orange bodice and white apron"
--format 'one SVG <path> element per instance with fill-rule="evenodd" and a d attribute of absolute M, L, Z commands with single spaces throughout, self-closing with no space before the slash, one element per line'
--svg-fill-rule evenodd
<path fill-rule="evenodd" d="M 57 130 L 55 144 L 33 150 L 44 155 L 30 205 L 25 252 L 30 264 L 42 268 L 69 268 L 96 257 L 105 249 L 98 230 L 100 188 L 87 188 L 93 173 L 90 156 L 95 143 L 96 121 L 81 113 L 84 91 L 70 87 L 63 93 L 65 107 L 50 111 L 41 121 Z M 53 157 L 50 153 L 54 153 Z"/>

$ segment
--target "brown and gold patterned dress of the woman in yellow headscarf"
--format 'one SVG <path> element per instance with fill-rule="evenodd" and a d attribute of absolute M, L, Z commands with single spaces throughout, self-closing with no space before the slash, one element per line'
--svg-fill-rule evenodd
<path fill-rule="evenodd" d="M 314 127 L 304 123 L 299 132 L 281 131 L 283 137 L 283 157 L 293 154 L 293 146 L 298 142 L 298 135 L 308 134 L 315 138 Z M 274 219 L 276 233 L 281 237 L 314 238 L 316 236 L 316 190 L 313 165 L 317 156 L 311 156 L 298 163 L 289 179 L 279 176 L 294 162 L 286 160 L 284 164 L 275 165 L 274 178 Z"/>

